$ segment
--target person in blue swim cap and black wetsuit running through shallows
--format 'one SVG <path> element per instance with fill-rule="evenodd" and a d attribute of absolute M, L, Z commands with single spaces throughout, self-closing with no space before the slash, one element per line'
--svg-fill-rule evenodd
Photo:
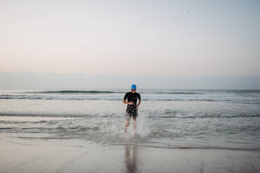
<path fill-rule="evenodd" d="M 138 103 L 137 103 L 138 99 Z M 138 106 L 140 105 L 140 94 L 136 92 L 136 85 L 131 85 L 131 91 L 124 95 L 123 103 L 127 104 L 126 118 L 124 131 L 127 132 L 131 117 L 133 117 L 133 130 L 136 128 L 136 117 L 138 116 Z"/>

